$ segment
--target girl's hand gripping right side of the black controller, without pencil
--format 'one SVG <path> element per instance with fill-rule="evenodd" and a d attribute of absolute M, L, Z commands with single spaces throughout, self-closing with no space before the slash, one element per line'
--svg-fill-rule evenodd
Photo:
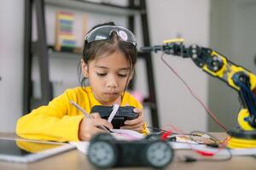
<path fill-rule="evenodd" d="M 137 131 L 138 133 L 142 133 L 143 125 L 144 125 L 143 110 L 136 108 L 133 111 L 137 112 L 138 114 L 137 118 L 133 120 L 126 120 L 125 126 L 120 128 L 131 129 L 131 130 Z"/>

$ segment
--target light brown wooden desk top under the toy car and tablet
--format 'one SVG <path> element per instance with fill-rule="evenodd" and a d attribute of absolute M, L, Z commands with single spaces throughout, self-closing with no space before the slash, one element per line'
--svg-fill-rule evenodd
<path fill-rule="evenodd" d="M 224 133 L 212 133 L 217 136 L 219 139 L 223 139 Z M 0 137 L 10 137 L 15 138 L 14 133 L 0 133 Z M 195 161 L 195 162 L 183 162 L 178 159 L 180 156 L 190 155 L 191 151 L 189 150 L 175 150 L 175 157 L 169 167 L 166 169 L 246 169 L 246 170 L 255 170 L 256 169 L 256 157 L 253 156 L 233 156 L 229 161 Z M 0 161 L 1 170 L 11 170 L 11 169 L 61 169 L 61 170 L 84 170 L 84 169 L 96 169 L 92 167 L 87 161 L 86 156 L 82 154 L 79 150 L 70 150 L 60 155 L 51 156 L 41 161 L 35 161 L 32 163 L 14 163 L 8 161 Z M 114 168 L 115 170 L 118 168 Z M 122 169 L 131 169 L 131 167 L 122 168 Z M 140 167 L 134 169 L 150 169 L 149 167 Z"/>

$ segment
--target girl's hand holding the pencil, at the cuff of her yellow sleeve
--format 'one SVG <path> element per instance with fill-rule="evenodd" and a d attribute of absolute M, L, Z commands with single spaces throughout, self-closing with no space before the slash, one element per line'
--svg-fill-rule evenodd
<path fill-rule="evenodd" d="M 93 113 L 90 118 L 84 117 L 79 125 L 79 139 L 90 140 L 96 133 L 107 133 L 101 126 L 113 128 L 112 124 L 102 117 L 98 113 Z"/>

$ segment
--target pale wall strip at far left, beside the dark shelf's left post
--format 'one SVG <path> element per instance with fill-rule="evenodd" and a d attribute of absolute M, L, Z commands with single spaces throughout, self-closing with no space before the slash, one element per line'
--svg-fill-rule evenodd
<path fill-rule="evenodd" d="M 22 111 L 24 1 L 0 5 L 0 132 L 14 131 Z"/>

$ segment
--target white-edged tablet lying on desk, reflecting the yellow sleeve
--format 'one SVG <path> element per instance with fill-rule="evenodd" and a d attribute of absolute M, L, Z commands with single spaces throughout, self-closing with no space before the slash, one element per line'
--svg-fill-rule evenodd
<path fill-rule="evenodd" d="M 74 148 L 73 144 L 0 138 L 0 161 L 38 161 Z"/>

